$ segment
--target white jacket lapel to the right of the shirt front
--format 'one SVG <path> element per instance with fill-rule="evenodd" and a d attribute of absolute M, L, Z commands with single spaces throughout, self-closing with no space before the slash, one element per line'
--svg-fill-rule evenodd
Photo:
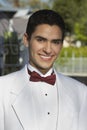
<path fill-rule="evenodd" d="M 69 89 L 66 89 L 67 83 L 57 75 L 58 86 L 58 130 L 77 130 L 78 113 L 72 100 L 74 95 L 70 95 Z M 69 84 L 68 84 L 69 85 Z"/>

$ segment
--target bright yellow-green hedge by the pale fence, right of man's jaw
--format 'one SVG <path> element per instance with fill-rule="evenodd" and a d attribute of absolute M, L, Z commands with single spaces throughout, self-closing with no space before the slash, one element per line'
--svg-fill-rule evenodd
<path fill-rule="evenodd" d="M 83 47 L 67 47 L 62 48 L 60 56 L 57 58 L 55 65 L 64 65 L 68 62 L 69 58 L 87 58 L 87 46 Z"/>

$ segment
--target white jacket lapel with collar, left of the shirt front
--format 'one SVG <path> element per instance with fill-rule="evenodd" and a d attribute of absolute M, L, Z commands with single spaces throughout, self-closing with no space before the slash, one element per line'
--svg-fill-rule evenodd
<path fill-rule="evenodd" d="M 20 79 L 22 83 L 19 82 L 19 79 L 18 82 L 16 80 L 17 86 L 11 90 L 12 109 L 24 130 L 37 130 L 31 87 L 29 86 L 26 70 L 25 67 L 20 73 L 21 78 L 23 78 Z"/>

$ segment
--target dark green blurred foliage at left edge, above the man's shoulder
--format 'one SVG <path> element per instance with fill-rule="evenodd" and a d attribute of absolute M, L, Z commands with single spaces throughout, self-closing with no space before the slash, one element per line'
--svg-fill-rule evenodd
<path fill-rule="evenodd" d="M 4 32 L 5 74 L 16 71 L 19 66 L 19 42 L 15 31 Z"/>

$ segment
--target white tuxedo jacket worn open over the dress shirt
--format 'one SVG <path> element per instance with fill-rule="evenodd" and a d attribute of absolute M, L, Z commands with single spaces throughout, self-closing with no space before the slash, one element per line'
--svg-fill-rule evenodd
<path fill-rule="evenodd" d="M 62 74 L 56 75 L 59 94 L 57 130 L 87 130 L 87 87 Z M 26 66 L 0 77 L 0 130 L 39 130 L 35 125 Z"/>

